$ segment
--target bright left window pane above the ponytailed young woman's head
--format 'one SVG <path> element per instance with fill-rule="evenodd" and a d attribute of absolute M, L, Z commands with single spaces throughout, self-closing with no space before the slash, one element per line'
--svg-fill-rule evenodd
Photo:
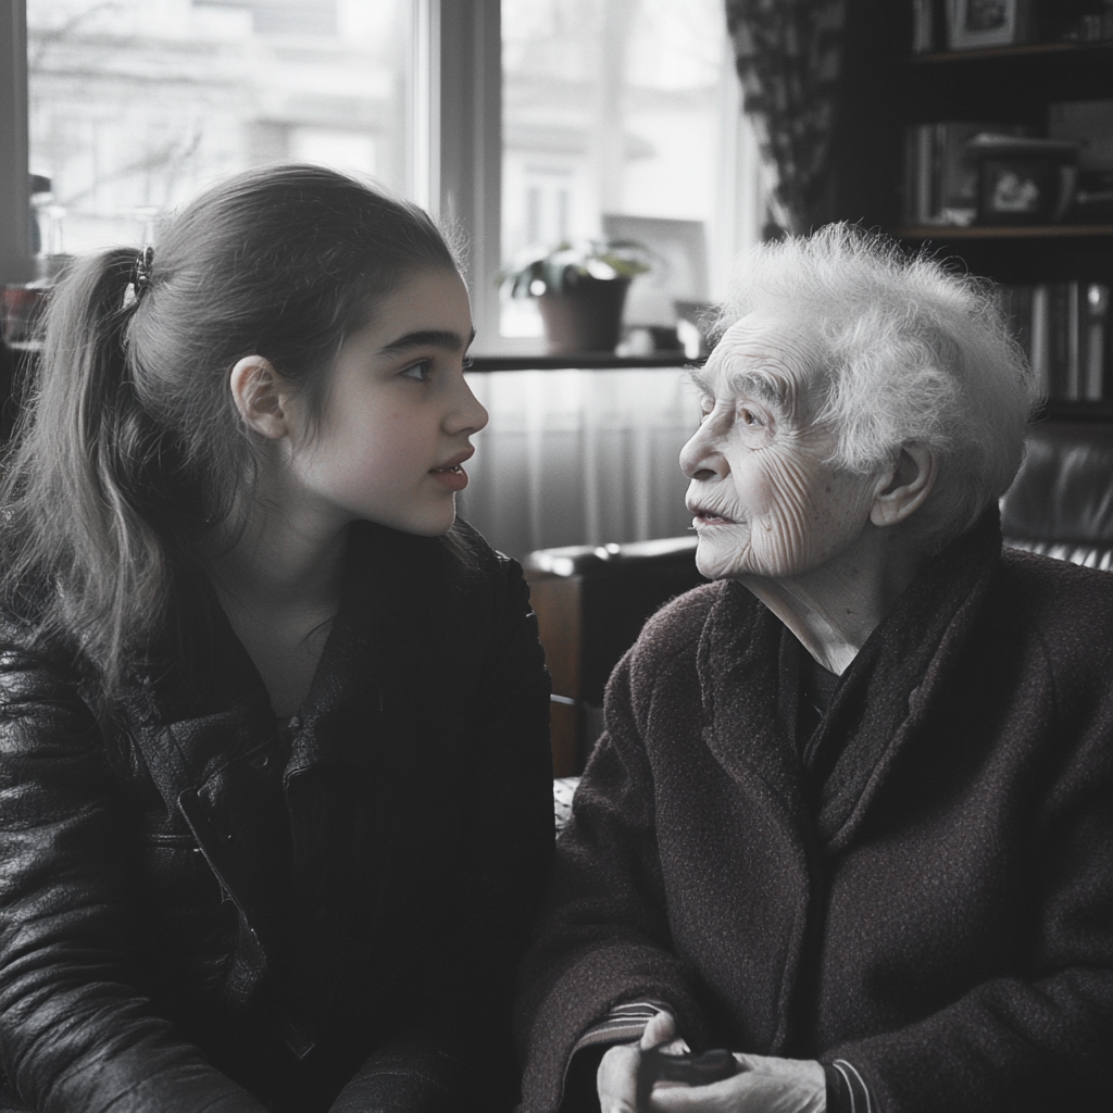
<path fill-rule="evenodd" d="M 266 162 L 404 190 L 411 2 L 27 0 L 42 249 L 136 243 Z"/>

